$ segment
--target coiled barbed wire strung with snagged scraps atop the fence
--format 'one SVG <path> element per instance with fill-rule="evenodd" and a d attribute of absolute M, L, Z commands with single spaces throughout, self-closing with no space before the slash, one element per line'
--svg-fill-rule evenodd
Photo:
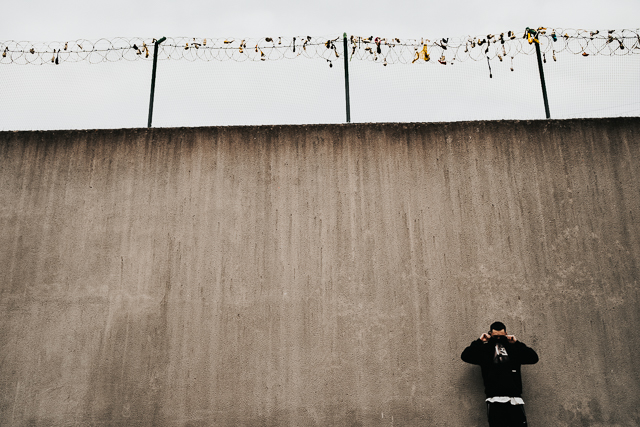
<path fill-rule="evenodd" d="M 155 39 L 114 38 L 97 41 L 0 42 L 0 64 L 54 64 L 65 62 L 116 62 L 151 60 Z M 510 59 L 535 54 L 535 44 L 546 56 L 556 55 L 620 56 L 640 54 L 640 29 L 573 30 L 547 29 L 508 31 L 486 36 L 441 39 L 399 39 L 349 36 L 349 60 L 388 64 L 440 63 L 468 60 Z M 263 37 L 241 38 L 167 38 L 158 45 L 158 59 L 187 61 L 274 61 L 297 57 L 318 58 L 330 66 L 344 55 L 343 38 Z M 513 68 L 513 67 L 512 67 Z"/>

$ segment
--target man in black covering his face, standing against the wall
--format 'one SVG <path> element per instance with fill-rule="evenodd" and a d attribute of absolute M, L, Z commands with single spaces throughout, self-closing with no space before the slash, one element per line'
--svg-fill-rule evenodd
<path fill-rule="evenodd" d="M 526 426 L 520 365 L 538 362 L 536 352 L 507 335 L 504 323 L 494 322 L 461 357 L 482 369 L 489 427 Z"/>

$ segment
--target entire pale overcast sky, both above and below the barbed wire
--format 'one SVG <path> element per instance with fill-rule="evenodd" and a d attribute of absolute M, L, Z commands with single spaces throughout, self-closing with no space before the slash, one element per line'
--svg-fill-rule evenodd
<path fill-rule="evenodd" d="M 640 28 L 640 0 L 609 1 L 79 1 L 5 2 L 0 42 L 115 37 L 464 37 L 525 27 Z M 640 55 L 567 54 L 545 65 L 552 118 L 640 115 Z M 352 121 L 542 119 L 535 56 L 442 67 L 353 61 Z M 434 64 L 435 63 L 435 64 Z M 340 61 L 164 61 L 154 126 L 344 122 Z M 0 64 L 0 131 L 145 127 L 150 61 Z M 596 73 L 597 71 L 597 73 Z"/>

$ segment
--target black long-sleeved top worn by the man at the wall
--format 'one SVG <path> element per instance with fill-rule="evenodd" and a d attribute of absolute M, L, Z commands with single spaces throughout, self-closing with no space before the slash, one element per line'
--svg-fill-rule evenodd
<path fill-rule="evenodd" d="M 522 378 L 520 365 L 534 364 L 538 362 L 536 352 L 524 343 L 516 341 L 510 344 L 501 341 L 507 351 L 508 358 L 505 361 L 496 361 L 496 341 L 494 339 L 483 342 L 477 339 L 462 352 L 462 360 L 474 365 L 480 365 L 484 392 L 487 397 L 494 396 L 522 396 Z"/>

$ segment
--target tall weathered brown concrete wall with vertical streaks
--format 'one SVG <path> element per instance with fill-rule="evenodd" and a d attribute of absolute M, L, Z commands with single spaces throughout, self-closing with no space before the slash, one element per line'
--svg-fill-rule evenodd
<path fill-rule="evenodd" d="M 640 424 L 640 119 L 0 133 L 0 424 Z"/>

